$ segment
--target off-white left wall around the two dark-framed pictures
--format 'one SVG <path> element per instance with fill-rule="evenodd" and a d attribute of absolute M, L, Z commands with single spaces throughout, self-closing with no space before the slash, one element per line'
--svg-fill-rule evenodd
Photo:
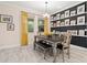
<path fill-rule="evenodd" d="M 0 48 L 19 46 L 21 44 L 21 11 L 37 13 L 26 8 L 12 4 L 0 4 L 0 14 L 13 17 L 14 31 L 7 31 L 7 23 L 0 23 Z"/>

